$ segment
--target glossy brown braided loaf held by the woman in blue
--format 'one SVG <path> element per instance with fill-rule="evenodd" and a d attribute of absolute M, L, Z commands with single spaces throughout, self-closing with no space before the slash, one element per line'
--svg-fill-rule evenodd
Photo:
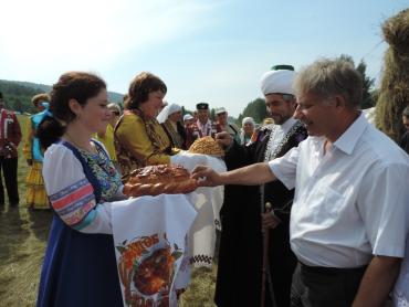
<path fill-rule="evenodd" d="M 186 194 L 196 190 L 198 182 L 181 166 L 149 166 L 134 170 L 124 186 L 128 197 Z"/>

